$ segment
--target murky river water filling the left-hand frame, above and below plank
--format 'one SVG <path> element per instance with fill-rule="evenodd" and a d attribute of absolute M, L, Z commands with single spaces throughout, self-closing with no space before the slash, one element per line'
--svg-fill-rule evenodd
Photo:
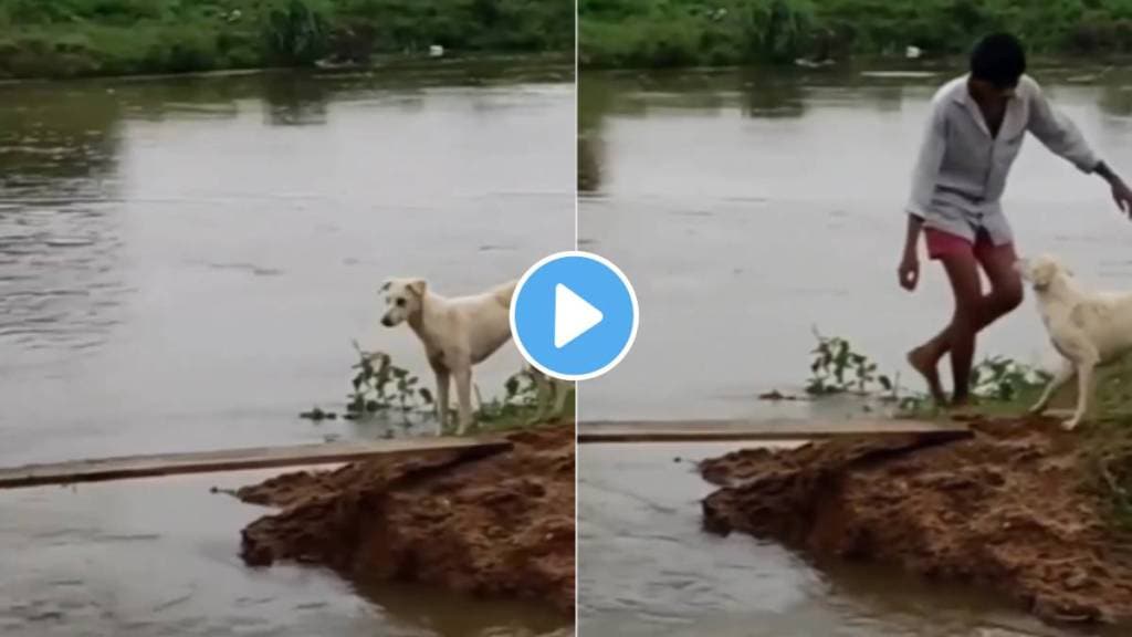
<path fill-rule="evenodd" d="M 383 278 L 477 291 L 573 246 L 574 112 L 556 62 L 0 85 L 0 464 L 383 435 L 297 415 L 343 402 L 351 339 L 426 377 Z M 208 487 L 266 475 L 0 492 L 0 632 L 567 630 L 243 567 L 264 510 Z"/>

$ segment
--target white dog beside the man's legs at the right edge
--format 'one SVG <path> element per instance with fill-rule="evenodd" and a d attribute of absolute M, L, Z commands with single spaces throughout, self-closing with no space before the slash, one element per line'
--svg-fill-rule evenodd
<path fill-rule="evenodd" d="M 1031 413 L 1043 413 L 1054 392 L 1075 374 L 1077 410 L 1062 424 L 1072 430 L 1088 411 L 1094 370 L 1132 350 L 1132 294 L 1083 290 L 1073 273 L 1050 256 L 1021 260 L 1015 269 L 1034 288 L 1049 339 L 1065 358 Z"/>

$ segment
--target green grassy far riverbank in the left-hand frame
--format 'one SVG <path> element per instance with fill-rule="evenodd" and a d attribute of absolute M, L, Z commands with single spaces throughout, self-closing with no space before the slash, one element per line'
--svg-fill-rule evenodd
<path fill-rule="evenodd" d="M 0 77 L 569 51 L 571 0 L 0 0 Z"/>

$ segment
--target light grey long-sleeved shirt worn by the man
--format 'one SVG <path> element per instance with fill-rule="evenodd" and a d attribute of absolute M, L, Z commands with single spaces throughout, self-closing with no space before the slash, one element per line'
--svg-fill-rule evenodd
<path fill-rule="evenodd" d="M 1022 76 L 998 135 L 992 137 L 967 79 L 964 75 L 949 82 L 932 100 L 908 213 L 923 219 L 927 228 L 971 241 L 984 229 L 995 245 L 1009 244 L 1013 236 L 1000 199 L 1026 133 L 1083 172 L 1097 168 L 1097 155 L 1029 76 Z"/>

